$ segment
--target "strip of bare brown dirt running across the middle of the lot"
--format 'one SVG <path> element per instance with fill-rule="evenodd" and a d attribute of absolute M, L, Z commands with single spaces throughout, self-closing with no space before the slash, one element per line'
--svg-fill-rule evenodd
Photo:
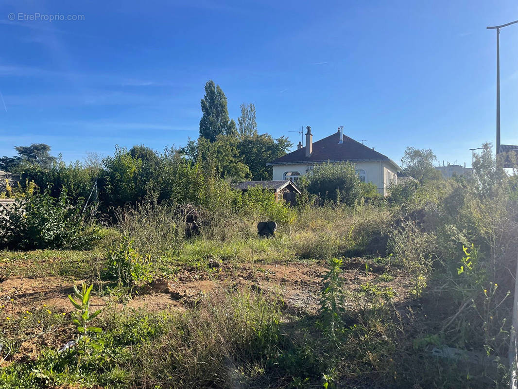
<path fill-rule="evenodd" d="M 62 259 L 61 259 L 62 260 Z M 322 277 L 327 271 L 325 263 L 293 262 L 277 264 L 216 264 L 209 271 L 184 270 L 170 280 L 156 280 L 150 287 L 142 288 L 125 305 L 127 308 L 144 308 L 149 311 L 184 310 L 203 294 L 215 288 L 252 287 L 258 291 L 275 293 L 293 313 L 314 314 L 318 310 Z M 376 282 L 382 272 L 376 266 L 365 271 L 365 261 L 360 258 L 347 260 L 342 272 L 346 290 L 353 290 L 365 282 Z M 408 280 L 402 274 L 392 274 L 394 279 L 379 282 L 392 287 L 396 300 L 408 296 Z M 67 295 L 73 294 L 73 285 L 81 280 L 67 280 L 57 276 L 0 278 L 0 305 L 8 313 L 35 308 L 52 307 L 65 314 L 73 310 Z M 92 309 L 101 309 L 110 296 L 92 296 Z"/>

